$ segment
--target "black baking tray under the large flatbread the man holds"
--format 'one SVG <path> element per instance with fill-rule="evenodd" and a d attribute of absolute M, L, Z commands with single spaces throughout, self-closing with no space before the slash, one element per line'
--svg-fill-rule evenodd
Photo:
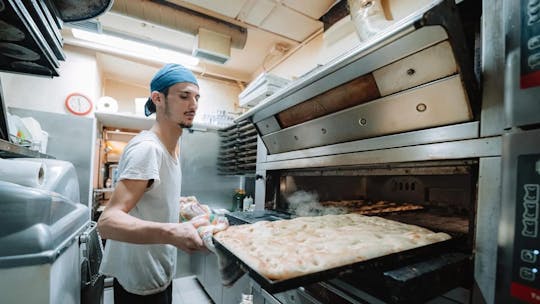
<path fill-rule="evenodd" d="M 270 293 L 276 293 L 321 281 L 351 275 L 358 272 L 387 271 L 405 265 L 406 263 L 422 261 L 433 255 L 443 254 L 446 252 L 455 252 L 457 250 L 463 249 L 464 243 L 466 243 L 466 236 L 452 235 L 452 238 L 446 241 L 285 280 L 268 279 L 267 277 L 263 276 L 258 271 L 244 263 L 236 255 L 230 252 L 225 246 L 223 246 L 218 240 L 216 240 L 215 238 L 213 240 L 214 245 L 218 250 L 221 250 L 221 252 L 227 256 L 227 258 L 233 260 L 240 268 L 242 268 L 246 273 L 248 273 L 249 276 L 253 280 L 255 280 L 262 288 L 264 288 Z"/>

